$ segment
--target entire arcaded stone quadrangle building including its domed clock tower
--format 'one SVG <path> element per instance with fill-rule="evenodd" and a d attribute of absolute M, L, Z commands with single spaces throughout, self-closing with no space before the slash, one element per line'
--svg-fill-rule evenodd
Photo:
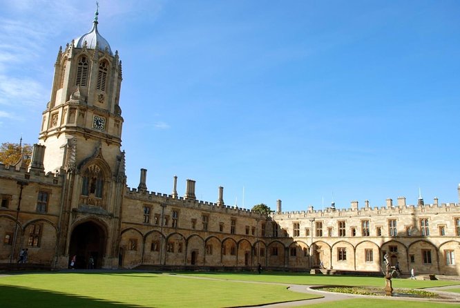
<path fill-rule="evenodd" d="M 405 198 L 348 209 L 263 215 L 195 198 L 195 181 L 153 193 L 140 171 L 126 186 L 119 106 L 122 62 L 97 30 L 59 48 L 50 102 L 29 166 L 0 164 L 0 263 L 55 269 L 247 268 L 381 271 L 383 256 L 403 273 L 459 275 L 460 202 L 406 204 Z M 459 187 L 460 197 L 460 187 Z"/>

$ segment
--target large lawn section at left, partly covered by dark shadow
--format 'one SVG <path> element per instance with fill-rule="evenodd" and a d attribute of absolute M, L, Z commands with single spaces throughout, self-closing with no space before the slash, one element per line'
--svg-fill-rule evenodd
<path fill-rule="evenodd" d="M 282 285 L 155 273 L 33 273 L 0 277 L 0 307 L 231 307 L 316 298 Z"/>

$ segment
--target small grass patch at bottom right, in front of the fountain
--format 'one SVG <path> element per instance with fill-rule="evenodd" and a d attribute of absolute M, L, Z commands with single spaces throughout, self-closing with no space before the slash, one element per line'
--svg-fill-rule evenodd
<path fill-rule="evenodd" d="M 351 300 L 341 300 L 340 302 L 324 302 L 321 304 L 298 306 L 317 308 L 356 308 L 356 307 L 372 307 L 372 308 L 388 308 L 388 307 L 410 307 L 410 308 L 448 308 L 459 307 L 458 303 L 445 304 L 443 302 L 416 302 L 409 300 L 377 300 L 374 298 L 353 298 Z"/>

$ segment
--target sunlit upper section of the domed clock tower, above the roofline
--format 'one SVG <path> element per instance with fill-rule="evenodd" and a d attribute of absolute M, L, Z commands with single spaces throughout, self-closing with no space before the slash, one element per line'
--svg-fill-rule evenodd
<path fill-rule="evenodd" d="M 39 143 L 46 146 L 45 172 L 59 172 L 102 151 L 114 170 L 120 155 L 122 110 L 119 92 L 122 63 L 118 52 L 97 30 L 97 15 L 90 32 L 59 48 L 50 102 L 41 122 Z M 76 145 L 75 157 L 70 140 Z"/>

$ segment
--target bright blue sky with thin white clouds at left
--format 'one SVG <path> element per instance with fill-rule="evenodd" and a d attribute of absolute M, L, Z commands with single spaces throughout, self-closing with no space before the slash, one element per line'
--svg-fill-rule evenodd
<path fill-rule="evenodd" d="M 99 1 L 128 186 L 283 211 L 458 202 L 459 1 Z M 95 1 L 0 0 L 0 142 L 37 142 Z M 244 187 L 244 199 L 243 199 Z"/>

